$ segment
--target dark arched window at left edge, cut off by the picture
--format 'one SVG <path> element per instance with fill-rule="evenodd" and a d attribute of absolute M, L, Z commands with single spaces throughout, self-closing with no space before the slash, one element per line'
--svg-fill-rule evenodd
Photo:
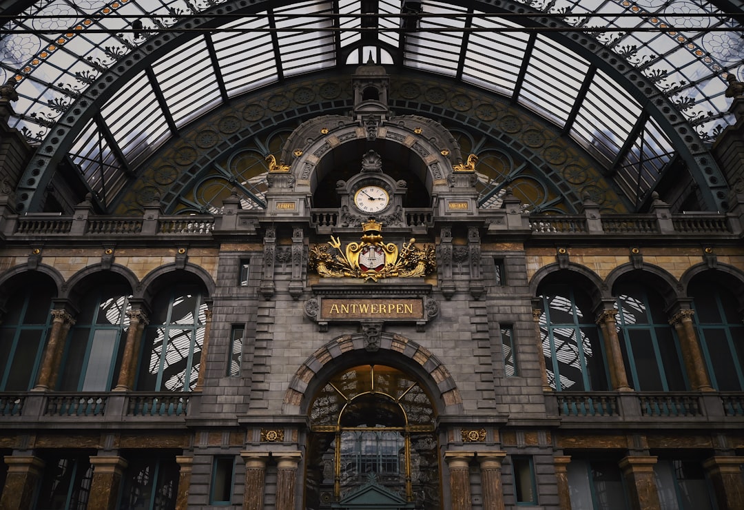
<path fill-rule="evenodd" d="M 36 383 L 55 293 L 51 281 L 37 275 L 24 278 L 7 300 L 0 321 L 0 391 L 25 392 Z"/>

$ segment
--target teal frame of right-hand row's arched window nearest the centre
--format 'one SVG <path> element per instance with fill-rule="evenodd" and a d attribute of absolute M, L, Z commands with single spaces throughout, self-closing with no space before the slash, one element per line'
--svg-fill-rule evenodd
<path fill-rule="evenodd" d="M 591 320 L 587 320 L 586 322 L 584 322 L 583 318 L 586 316 L 586 313 L 583 310 L 580 310 L 580 308 L 577 306 L 576 293 L 570 285 L 549 285 L 545 287 L 544 290 L 545 293 L 548 293 L 548 291 L 552 290 L 553 292 L 551 294 L 560 296 L 562 299 L 567 300 L 571 305 L 570 314 L 572 318 L 570 323 L 557 321 L 554 322 L 553 318 L 551 317 L 551 303 L 548 302 L 548 298 L 545 296 L 545 293 L 542 293 L 540 296 L 538 296 L 542 303 L 542 314 L 540 315 L 539 319 L 540 334 L 542 337 L 542 350 L 543 354 L 545 354 L 546 350 L 550 353 L 549 358 L 547 356 L 545 357 L 545 369 L 548 370 L 548 383 L 550 384 L 551 388 L 553 388 L 557 392 L 603 391 L 608 389 L 609 369 L 607 364 L 607 357 L 605 354 L 604 342 L 599 327 Z M 567 293 L 568 296 L 564 296 L 565 293 Z M 565 340 L 561 340 L 562 338 L 569 338 L 565 334 L 565 331 L 571 331 L 570 338 L 574 341 L 573 344 L 568 344 L 567 342 L 565 342 Z M 588 353 L 586 352 L 585 345 L 586 342 L 591 342 L 591 340 L 589 340 L 587 337 L 587 331 L 591 331 L 591 333 L 594 334 L 597 347 L 599 349 L 599 352 L 597 352 L 596 354 L 591 353 L 589 357 L 597 357 L 597 361 L 595 363 L 598 363 L 600 365 L 599 368 L 602 374 L 601 381 L 604 386 L 603 388 L 594 388 L 595 385 L 594 383 L 592 383 L 592 369 L 590 369 L 589 367 L 589 360 L 587 359 Z M 578 341 L 577 339 L 582 339 L 582 341 Z M 545 345 L 546 341 L 547 346 Z M 575 361 L 579 364 L 578 369 L 581 373 L 581 384 L 583 385 L 582 389 L 571 389 L 571 386 L 569 386 L 568 388 L 563 387 L 564 383 L 562 383 L 561 379 L 562 373 L 560 371 L 560 366 L 562 364 L 571 366 L 571 363 L 561 362 L 561 359 L 565 357 L 562 354 L 563 351 L 565 351 L 565 348 L 568 348 L 569 350 L 571 350 L 572 348 L 576 349 L 574 355 Z"/>

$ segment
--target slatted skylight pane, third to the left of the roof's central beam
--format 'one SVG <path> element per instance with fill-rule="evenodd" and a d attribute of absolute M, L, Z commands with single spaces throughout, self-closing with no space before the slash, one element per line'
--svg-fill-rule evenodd
<path fill-rule="evenodd" d="M 179 127 L 222 101 L 203 39 L 171 51 L 153 64 L 153 71 L 173 121 Z"/>

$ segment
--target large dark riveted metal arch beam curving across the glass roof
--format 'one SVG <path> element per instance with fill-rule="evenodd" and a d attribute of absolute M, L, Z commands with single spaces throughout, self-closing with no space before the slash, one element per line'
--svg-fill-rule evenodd
<path fill-rule="evenodd" d="M 667 135 L 673 141 L 674 147 L 679 150 L 683 159 L 687 162 L 688 167 L 693 172 L 696 182 L 702 189 L 708 190 L 704 194 L 706 205 L 715 210 L 725 210 L 725 203 L 728 192 L 728 185 L 722 172 L 716 167 L 712 156 L 705 149 L 705 145 L 700 140 L 696 131 L 687 122 L 684 115 L 679 109 L 661 91 L 647 80 L 644 75 L 627 63 L 623 57 L 615 54 L 613 51 L 605 48 L 600 42 L 597 42 L 592 36 L 570 31 L 568 25 L 554 20 L 549 14 L 542 13 L 539 10 L 531 9 L 525 4 L 513 0 L 453 0 L 455 3 L 467 6 L 478 5 L 486 13 L 515 13 L 525 10 L 532 11 L 536 18 L 528 22 L 529 27 L 545 28 L 551 31 L 551 36 L 568 48 L 581 54 L 590 63 L 594 63 L 597 68 L 606 71 L 625 86 L 629 92 L 641 102 L 641 104 L 650 105 L 652 116 L 664 128 Z M 257 0 L 246 7 L 240 7 L 243 3 L 240 0 L 228 1 L 224 4 L 211 7 L 194 17 L 190 17 L 187 22 L 182 22 L 174 27 L 174 30 L 185 28 L 185 26 L 198 26 L 203 28 L 215 27 L 220 23 L 217 13 L 235 13 L 251 14 L 260 10 L 272 10 L 269 7 L 277 3 L 271 0 Z M 281 2 L 283 4 L 284 2 Z M 565 28 L 565 32 L 555 31 L 555 27 Z M 39 192 L 48 184 L 51 179 L 51 171 L 60 162 L 62 154 L 71 147 L 74 136 L 91 118 L 90 110 L 100 107 L 107 98 L 112 97 L 115 85 L 123 82 L 127 77 L 131 77 L 135 72 L 144 68 L 147 63 L 155 60 L 160 51 L 165 48 L 176 47 L 177 44 L 193 39 L 192 33 L 169 32 L 160 34 L 151 39 L 146 39 L 141 46 L 136 48 L 124 57 L 121 57 L 117 63 L 105 71 L 100 78 L 84 92 L 68 108 L 68 112 L 62 115 L 62 121 L 59 121 L 51 129 L 48 136 L 42 142 L 39 151 L 32 159 L 31 164 L 25 170 L 24 178 L 21 182 L 33 181 L 35 185 L 19 186 L 17 196 L 19 200 L 19 211 L 29 211 L 33 206 L 41 203 L 42 197 Z M 278 46 L 275 45 L 275 51 Z M 611 62 L 611 60 L 613 62 Z M 337 63 L 338 64 L 338 63 Z M 280 80 L 283 74 L 280 73 Z M 79 114 L 71 112 L 79 111 Z M 33 177 L 33 179 L 31 179 Z"/>

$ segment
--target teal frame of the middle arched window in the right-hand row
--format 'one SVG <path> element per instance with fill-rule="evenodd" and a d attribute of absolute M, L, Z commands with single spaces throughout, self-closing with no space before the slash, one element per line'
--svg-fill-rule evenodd
<path fill-rule="evenodd" d="M 652 310 L 654 304 L 652 302 L 652 299 L 650 299 L 648 289 L 646 287 L 638 284 L 631 284 L 629 286 L 623 286 L 621 288 L 630 288 L 632 290 L 638 291 L 638 294 L 633 296 L 631 296 L 629 293 L 618 292 L 618 297 L 615 300 L 615 306 L 618 310 L 617 331 L 618 338 L 620 339 L 620 348 L 623 350 L 623 361 L 626 365 L 626 371 L 630 372 L 629 375 L 630 379 L 632 380 L 633 388 L 635 388 L 635 390 L 639 392 L 687 391 L 690 388 L 690 382 L 687 379 L 687 373 L 684 370 L 684 366 L 682 365 L 682 352 L 679 348 L 679 340 L 677 338 L 676 331 L 674 331 L 674 328 L 669 324 L 669 322 L 654 322 L 654 313 L 663 313 L 663 310 Z M 625 297 L 623 298 L 623 296 Z M 644 314 L 645 322 L 636 324 L 628 317 L 626 317 L 626 312 L 623 308 L 622 303 L 629 302 L 630 299 L 634 300 L 634 302 L 638 306 L 643 307 L 643 310 L 638 311 L 641 311 Z M 667 364 L 665 363 L 667 360 L 664 358 L 664 354 L 662 354 L 661 347 L 659 345 L 659 330 L 668 331 L 670 334 L 670 338 L 674 345 L 674 352 L 676 354 L 676 367 L 667 366 Z M 633 354 L 632 345 L 632 340 L 634 340 L 634 335 L 632 333 L 635 331 L 645 331 L 650 337 L 652 351 L 654 353 L 656 363 L 656 369 L 658 370 L 658 374 L 660 377 L 661 388 L 659 389 L 648 389 L 641 387 L 644 385 L 641 385 L 641 378 L 638 376 L 638 366 L 636 366 L 636 357 Z M 667 374 L 667 372 L 669 372 L 670 369 L 675 368 L 679 369 L 679 375 L 682 379 L 682 387 L 670 388 L 671 376 Z"/>

